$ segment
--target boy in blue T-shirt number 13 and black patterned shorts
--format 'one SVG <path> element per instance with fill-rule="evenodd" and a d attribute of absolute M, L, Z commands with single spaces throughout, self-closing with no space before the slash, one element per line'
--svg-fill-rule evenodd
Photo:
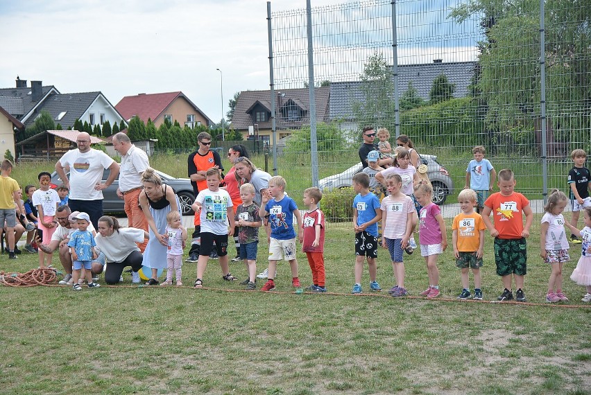
<path fill-rule="evenodd" d="M 370 289 L 381 291 L 376 281 L 377 265 L 377 222 L 382 220 L 379 199 L 369 191 L 369 177 L 366 173 L 353 176 L 353 189 L 357 196 L 353 199 L 353 229 L 355 231 L 355 283 L 352 293 L 361 293 L 361 274 L 363 261 L 368 259 Z"/>

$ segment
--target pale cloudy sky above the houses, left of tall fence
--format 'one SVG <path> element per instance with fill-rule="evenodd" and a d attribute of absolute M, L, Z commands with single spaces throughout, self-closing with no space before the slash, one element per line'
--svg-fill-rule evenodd
<path fill-rule="evenodd" d="M 271 1 L 274 13 L 305 7 Z M 112 105 L 182 91 L 219 122 L 235 92 L 270 89 L 266 8 L 262 0 L 0 0 L 0 87 L 19 76 L 62 94 L 102 91 Z"/>

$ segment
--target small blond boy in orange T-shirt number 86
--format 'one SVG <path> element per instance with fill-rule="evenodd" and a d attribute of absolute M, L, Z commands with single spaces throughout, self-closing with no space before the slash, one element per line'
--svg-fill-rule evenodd
<path fill-rule="evenodd" d="M 477 204 L 476 191 L 464 189 L 458 195 L 458 203 L 462 210 L 454 218 L 452 225 L 452 242 L 456 266 L 461 269 L 462 292 L 458 299 L 469 299 L 470 279 L 468 267 L 474 273 L 474 300 L 482 300 L 480 268 L 484 254 L 484 229 L 486 225 L 479 213 L 474 212 Z"/>

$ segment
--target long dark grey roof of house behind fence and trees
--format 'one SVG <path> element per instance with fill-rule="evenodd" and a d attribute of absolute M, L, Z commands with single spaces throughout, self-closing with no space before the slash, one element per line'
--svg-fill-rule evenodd
<path fill-rule="evenodd" d="M 399 98 L 409 89 L 409 82 L 412 82 L 417 95 L 424 100 L 429 100 L 433 81 L 442 73 L 447 76 L 447 82 L 455 85 L 455 98 L 468 96 L 468 87 L 476 66 L 477 62 L 443 63 L 439 59 L 427 64 L 400 64 L 397 67 Z M 358 129 L 352 113 L 352 103 L 363 100 L 360 86 L 361 81 L 332 82 L 330 84 L 329 118 L 341 121 L 341 129 L 343 130 Z"/>

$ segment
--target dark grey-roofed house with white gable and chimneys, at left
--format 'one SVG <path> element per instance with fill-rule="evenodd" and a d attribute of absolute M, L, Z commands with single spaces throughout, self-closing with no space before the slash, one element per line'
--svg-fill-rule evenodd
<path fill-rule="evenodd" d="M 0 107 L 4 107 L 25 128 L 33 125 L 42 111 L 49 112 L 55 124 L 59 123 L 62 129 L 74 126 L 76 119 L 92 127 L 102 127 L 106 121 L 111 125 L 119 124 L 123 120 L 100 91 L 61 94 L 53 85 L 42 86 L 42 81 L 31 81 L 28 88 L 26 80 L 18 77 L 15 88 L 0 89 Z"/>

